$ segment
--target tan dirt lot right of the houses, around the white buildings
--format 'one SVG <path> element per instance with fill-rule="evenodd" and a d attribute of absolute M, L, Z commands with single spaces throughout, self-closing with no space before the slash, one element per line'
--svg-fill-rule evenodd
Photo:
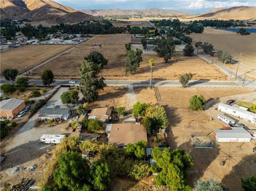
<path fill-rule="evenodd" d="M 193 156 L 195 165 L 189 170 L 189 184 L 193 185 L 198 178 L 209 179 L 213 178 L 222 181 L 222 184 L 230 190 L 242 190 L 240 178 L 246 178 L 255 174 L 256 155 L 252 152 L 252 143 L 214 143 L 213 149 L 194 148 L 191 145 L 190 135 L 192 133 L 207 133 L 209 134 L 214 129 L 222 127 L 223 123 L 216 119 L 215 105 L 209 106 L 206 111 L 190 111 L 188 109 L 189 98 L 195 94 L 202 94 L 206 100 L 213 98 L 215 102 L 225 101 L 228 98 L 235 98 L 237 101 L 244 100 L 247 95 L 237 94 L 238 89 L 210 89 L 210 88 L 187 88 L 187 89 L 172 89 L 158 88 L 162 101 L 159 105 L 165 107 L 170 122 L 170 137 L 169 144 L 172 149 L 183 148 L 191 156 Z M 250 92 L 250 89 L 239 89 L 239 93 Z M 138 93 L 137 100 L 140 102 L 156 103 L 153 101 L 154 90 L 150 89 L 134 89 Z M 225 97 L 223 97 L 225 96 Z M 255 92 L 250 96 L 254 97 Z M 251 100 L 249 100 L 251 101 Z M 213 117 L 213 121 L 210 117 Z M 247 125 L 246 121 L 241 121 Z M 250 124 L 253 126 L 252 124 Z M 234 156 L 230 159 L 229 167 L 226 154 Z M 219 162 L 226 160 L 226 164 L 221 166 Z"/>

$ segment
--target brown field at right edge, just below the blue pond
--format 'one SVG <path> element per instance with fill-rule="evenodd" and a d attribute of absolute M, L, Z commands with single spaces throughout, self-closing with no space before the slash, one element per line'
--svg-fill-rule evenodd
<path fill-rule="evenodd" d="M 256 68 L 256 34 L 251 35 L 238 35 L 236 32 L 225 31 L 220 29 L 204 28 L 202 34 L 195 34 L 194 32 L 190 35 L 193 38 L 193 43 L 197 41 L 209 42 L 214 46 L 217 51 L 229 52 L 234 59 L 239 59 L 241 56 L 241 64 L 239 65 L 238 72 L 245 73 L 247 71 Z M 231 69 L 236 70 L 237 64 L 226 64 Z M 251 71 L 247 76 L 256 76 L 256 70 Z"/>

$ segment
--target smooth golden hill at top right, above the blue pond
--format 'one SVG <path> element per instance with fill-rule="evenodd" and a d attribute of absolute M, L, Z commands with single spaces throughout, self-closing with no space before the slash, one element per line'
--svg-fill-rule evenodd
<path fill-rule="evenodd" d="M 223 20 L 255 20 L 256 7 L 250 6 L 235 6 L 228 9 L 213 9 L 205 13 L 191 16 L 194 19 L 223 19 Z"/>

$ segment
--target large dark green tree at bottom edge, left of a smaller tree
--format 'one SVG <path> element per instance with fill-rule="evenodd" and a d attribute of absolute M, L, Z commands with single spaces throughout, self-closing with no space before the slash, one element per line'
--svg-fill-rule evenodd
<path fill-rule="evenodd" d="M 54 170 L 53 177 L 61 190 L 82 190 L 83 183 L 88 184 L 89 165 L 80 154 L 77 152 L 60 153 L 58 163 L 59 167 Z"/>

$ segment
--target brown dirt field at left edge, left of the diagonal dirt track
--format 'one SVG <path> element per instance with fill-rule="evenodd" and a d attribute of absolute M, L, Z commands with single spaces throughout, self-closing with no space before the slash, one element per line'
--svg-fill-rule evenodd
<path fill-rule="evenodd" d="M 26 45 L 10 48 L 1 53 L 1 72 L 6 68 L 16 68 L 19 73 L 35 67 L 58 53 L 74 45 Z"/>

